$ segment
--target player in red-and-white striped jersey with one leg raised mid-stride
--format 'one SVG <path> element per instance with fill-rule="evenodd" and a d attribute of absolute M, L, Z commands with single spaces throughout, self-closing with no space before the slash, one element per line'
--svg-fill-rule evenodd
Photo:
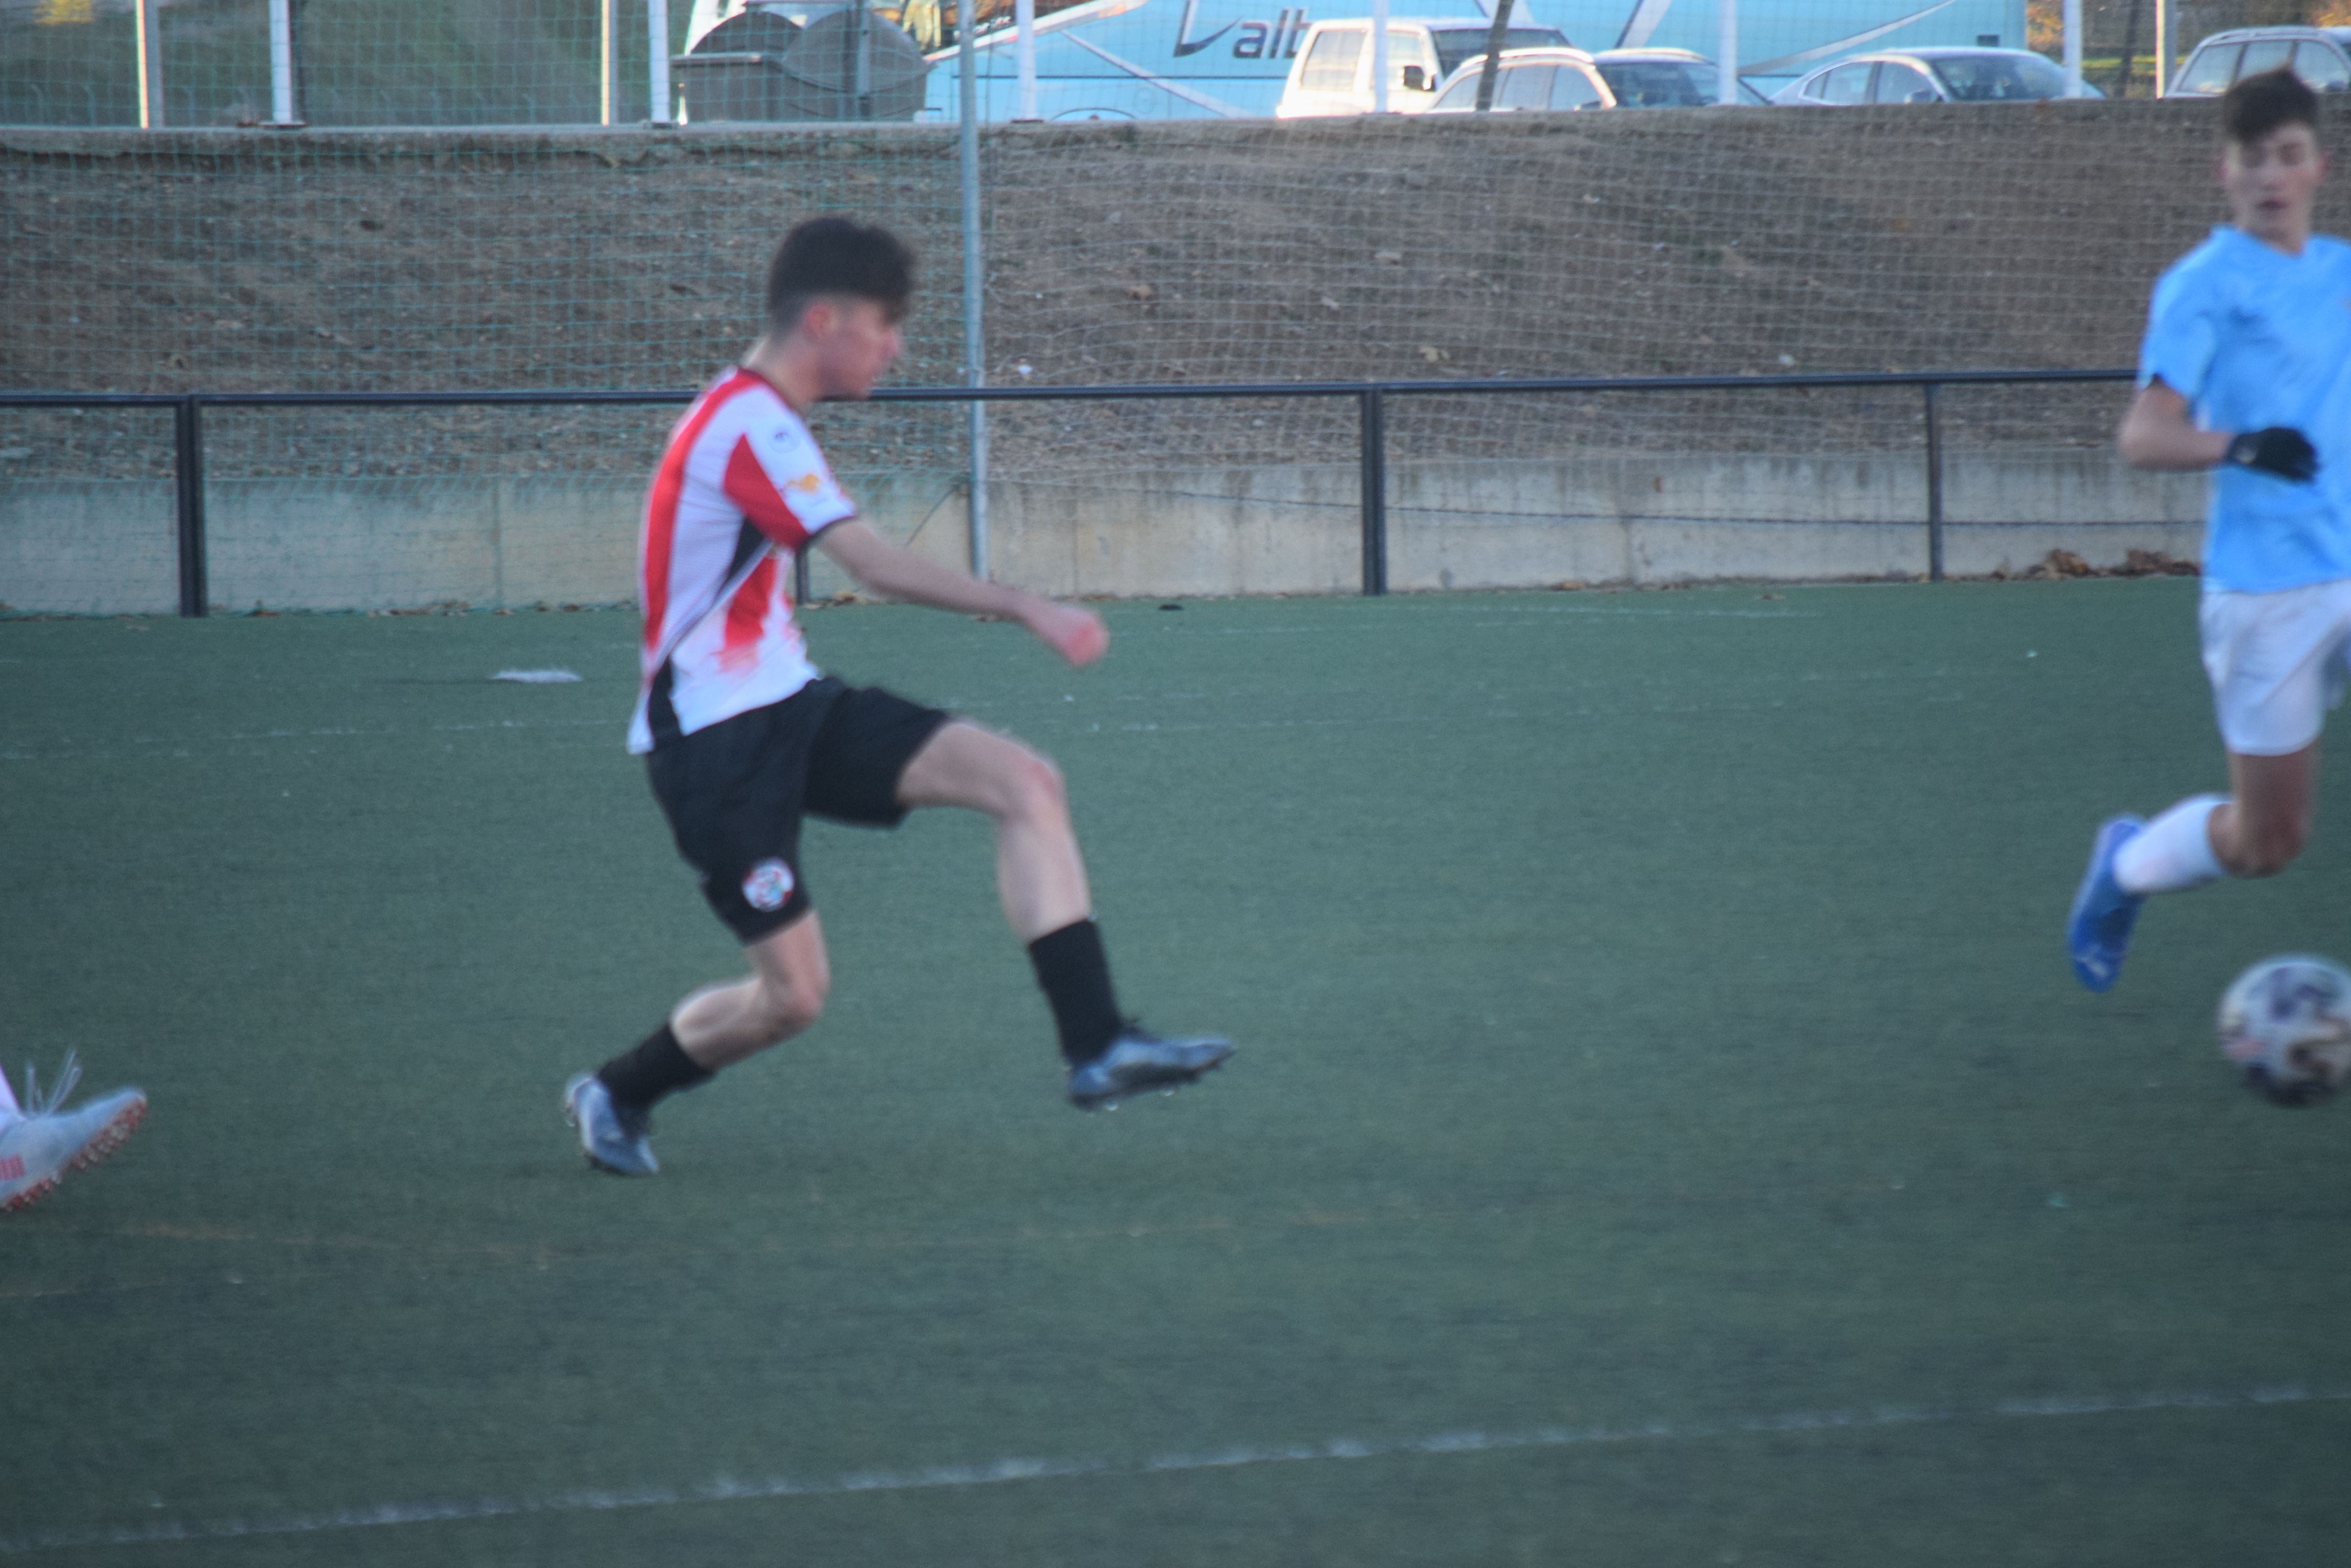
<path fill-rule="evenodd" d="M 750 976 L 679 1001 L 644 1044 L 564 1088 L 597 1168 L 651 1175 L 651 1107 L 799 1034 L 825 1006 L 825 936 L 799 870 L 804 813 L 891 827 L 915 806 L 994 820 L 997 891 L 1027 945 L 1070 1100 L 1114 1105 L 1218 1067 L 1218 1037 L 1161 1039 L 1119 1013 L 1060 773 L 1025 745 L 882 689 L 820 675 L 792 623 L 792 557 L 818 548 L 865 588 L 1027 628 L 1072 665 L 1110 632 L 1074 604 L 980 583 L 891 545 L 804 423 L 865 397 L 898 357 L 915 259 L 893 235 L 811 219 L 766 277 L 766 334 L 670 433 L 644 510 L 642 691 L 628 745 Z"/>

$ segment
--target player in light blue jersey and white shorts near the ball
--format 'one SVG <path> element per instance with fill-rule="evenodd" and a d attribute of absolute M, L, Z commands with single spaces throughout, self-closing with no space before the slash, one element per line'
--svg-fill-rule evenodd
<path fill-rule="evenodd" d="M 2149 893 L 2271 877 L 2302 853 L 2318 731 L 2351 675 L 2351 244 L 2311 233 L 2318 94 L 2266 71 L 2219 113 L 2229 226 L 2156 282 L 2121 449 L 2215 470 L 2198 623 L 2229 795 L 2097 830 L 2067 929 L 2095 992 Z"/>

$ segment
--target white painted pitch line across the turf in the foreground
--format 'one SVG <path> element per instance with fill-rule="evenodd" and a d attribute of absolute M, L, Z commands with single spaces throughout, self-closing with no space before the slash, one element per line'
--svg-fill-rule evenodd
<path fill-rule="evenodd" d="M 868 1469 L 844 1476 L 792 1481 L 741 1481 L 715 1476 L 701 1486 L 644 1486 L 632 1490 L 574 1490 L 552 1497 L 475 1497 L 465 1502 L 383 1502 L 327 1514 L 284 1519 L 214 1519 L 118 1526 L 113 1530 L 0 1537 L 0 1556 L 35 1552 L 87 1552 L 92 1547 L 141 1547 L 183 1540 L 240 1540 L 263 1535 L 320 1535 L 371 1530 L 402 1523 L 461 1523 L 534 1514 L 614 1514 L 759 1497 L 849 1497 L 856 1493 L 922 1493 L 950 1486 L 1004 1486 L 1009 1481 L 1058 1481 L 1067 1476 L 1159 1476 L 1187 1469 L 1241 1469 L 1251 1465 L 1312 1465 L 1331 1460 L 1380 1460 L 1406 1455 L 1512 1453 L 1528 1448 L 1599 1448 L 1615 1443 L 1697 1443 L 1723 1436 L 1777 1432 L 1869 1432 L 1883 1427 L 1956 1427 L 1977 1420 L 2062 1420 L 2078 1415 L 2146 1415 L 2158 1410 L 2252 1410 L 2264 1406 L 2344 1403 L 2351 1389 L 2283 1385 L 2245 1394 L 2057 1394 L 2003 1399 L 1991 1406 L 1923 1410 L 1787 1410 L 1719 1422 L 1646 1422 L 1639 1427 L 1533 1427 L 1526 1432 L 1436 1432 L 1429 1436 L 1326 1443 L 1288 1448 L 1227 1448 L 1220 1453 L 1173 1453 L 1143 1462 L 1114 1460 L 992 1460 L 936 1469 Z"/>

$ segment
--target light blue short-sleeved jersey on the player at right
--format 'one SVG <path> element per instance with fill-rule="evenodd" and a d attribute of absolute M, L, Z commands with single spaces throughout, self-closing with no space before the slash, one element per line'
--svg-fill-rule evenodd
<path fill-rule="evenodd" d="M 2205 430 L 2292 425 L 2318 449 L 2295 484 L 2236 463 L 2212 475 L 2205 581 L 2271 592 L 2351 578 L 2351 244 L 2311 235 L 2288 256 L 2236 228 L 2156 282 L 2139 346 Z"/>

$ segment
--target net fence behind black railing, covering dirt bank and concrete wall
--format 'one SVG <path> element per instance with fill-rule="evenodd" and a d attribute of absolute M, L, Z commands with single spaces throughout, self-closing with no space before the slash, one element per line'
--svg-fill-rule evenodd
<path fill-rule="evenodd" d="M 2212 106 L 2191 101 L 990 127 L 985 369 L 1091 386 L 2128 364 L 2149 282 L 2219 216 L 2210 141 Z M 0 132 L 0 200 L 9 388 L 686 388 L 757 331 L 766 249 L 816 212 L 917 244 L 896 378 L 959 381 L 952 127 L 19 129 Z M 1951 388 L 1947 515 L 2020 529 L 1954 571 L 2193 552 L 2198 484 L 2121 470 L 2118 407 L 2118 388 Z M 205 421 L 216 602 L 531 604 L 628 595 L 670 411 Z M 1396 397 L 1387 421 L 1399 588 L 1770 576 L 1775 550 L 1817 576 L 1925 567 L 1914 388 Z M 875 522 L 964 559 L 959 409 L 828 407 L 818 430 Z M 1359 581 L 1347 400 L 997 404 L 990 430 L 999 576 Z M 167 550 L 169 463 L 162 416 L 0 411 L 0 602 L 167 607 L 169 574 L 120 588 L 106 541 Z M 1704 541 L 1643 552 L 1707 524 L 1761 534 L 1712 569 Z M 1815 524 L 1846 543 L 1803 543 Z M 397 538 L 468 529 L 465 550 L 388 564 Z M 557 559 L 567 529 L 597 567 L 513 569 Z M 1436 559 L 1422 545 L 1446 529 L 1512 543 Z M 1838 555 L 1853 541 L 1876 543 Z M 468 564 L 435 578 L 414 564 L 435 550 Z M 331 559 L 336 588 L 303 599 L 292 555 Z"/>

